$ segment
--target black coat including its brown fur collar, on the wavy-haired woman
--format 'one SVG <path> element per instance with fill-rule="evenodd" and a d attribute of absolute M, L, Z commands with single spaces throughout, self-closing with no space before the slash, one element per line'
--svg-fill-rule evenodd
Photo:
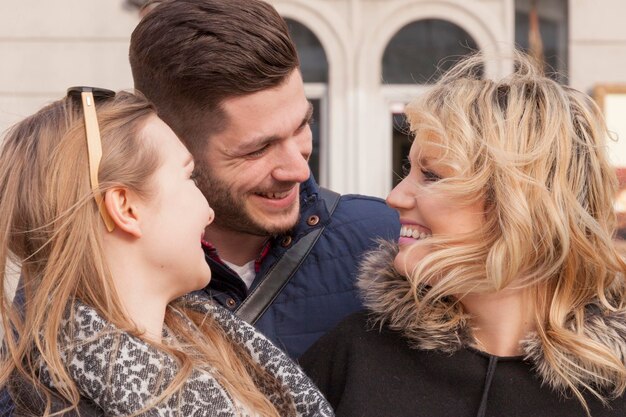
<path fill-rule="evenodd" d="M 524 356 L 480 352 L 472 347 L 467 317 L 445 300 L 441 309 L 455 326 L 422 325 L 411 283 L 393 269 L 396 253 L 397 246 L 382 244 L 366 256 L 358 285 L 368 312 L 347 318 L 300 359 L 337 416 L 587 416 L 573 394 L 563 394 L 570 392 L 563 373 L 573 372 L 554 369 L 536 334 L 522 342 Z M 605 311 L 600 303 L 589 303 L 580 325 L 626 360 L 626 310 Z M 583 389 L 583 384 L 601 392 L 614 388 L 613 374 L 581 357 L 572 356 L 563 366 L 588 371 L 579 389 L 592 416 L 626 416 L 624 395 L 604 407 Z"/>

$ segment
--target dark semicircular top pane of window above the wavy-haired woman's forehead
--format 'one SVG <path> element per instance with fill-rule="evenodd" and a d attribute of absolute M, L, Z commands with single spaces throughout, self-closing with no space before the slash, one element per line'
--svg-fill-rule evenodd
<path fill-rule="evenodd" d="M 438 19 L 409 23 L 385 49 L 383 83 L 434 83 L 461 56 L 477 50 L 474 39 L 454 23 Z"/>

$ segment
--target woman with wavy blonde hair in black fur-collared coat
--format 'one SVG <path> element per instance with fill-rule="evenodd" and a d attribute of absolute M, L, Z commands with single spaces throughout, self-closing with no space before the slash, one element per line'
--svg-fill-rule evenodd
<path fill-rule="evenodd" d="M 626 415 L 626 264 L 597 106 L 516 55 L 456 64 L 406 110 L 399 242 L 366 311 L 301 359 L 338 416 Z"/>

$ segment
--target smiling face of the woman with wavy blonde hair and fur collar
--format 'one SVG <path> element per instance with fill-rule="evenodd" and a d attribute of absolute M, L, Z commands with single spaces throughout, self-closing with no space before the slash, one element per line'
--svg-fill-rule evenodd
<path fill-rule="evenodd" d="M 453 174 L 437 151 L 420 149 L 416 140 L 409 161 L 410 170 L 387 197 L 387 204 L 400 214 L 400 250 L 394 267 L 405 276 L 432 251 L 428 242 L 433 236 L 455 237 L 484 224 L 484 201 L 463 204 L 434 187 Z"/>

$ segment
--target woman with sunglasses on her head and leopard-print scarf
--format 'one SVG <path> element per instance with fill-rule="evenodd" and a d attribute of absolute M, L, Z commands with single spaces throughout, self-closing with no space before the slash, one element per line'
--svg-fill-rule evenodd
<path fill-rule="evenodd" d="M 0 384 L 33 388 L 16 414 L 331 416 L 254 328 L 185 296 L 211 278 L 212 220 L 191 155 L 138 95 L 72 88 L 13 127 L 0 292 L 11 259 L 25 301 L 0 301 Z"/>

